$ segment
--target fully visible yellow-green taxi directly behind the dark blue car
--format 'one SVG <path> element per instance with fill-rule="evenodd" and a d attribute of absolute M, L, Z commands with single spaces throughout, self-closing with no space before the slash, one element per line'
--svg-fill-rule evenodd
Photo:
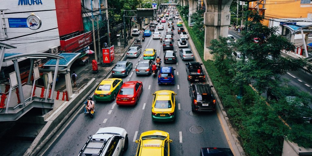
<path fill-rule="evenodd" d="M 152 120 L 153 121 L 174 121 L 175 115 L 175 95 L 171 90 L 159 90 L 154 94 L 152 104 Z"/>

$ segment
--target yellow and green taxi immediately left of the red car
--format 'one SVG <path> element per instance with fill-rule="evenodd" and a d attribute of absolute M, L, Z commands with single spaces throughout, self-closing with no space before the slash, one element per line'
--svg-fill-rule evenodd
<path fill-rule="evenodd" d="M 118 78 L 102 80 L 94 92 L 94 100 L 96 101 L 115 100 L 122 84 L 123 84 L 122 79 Z"/>

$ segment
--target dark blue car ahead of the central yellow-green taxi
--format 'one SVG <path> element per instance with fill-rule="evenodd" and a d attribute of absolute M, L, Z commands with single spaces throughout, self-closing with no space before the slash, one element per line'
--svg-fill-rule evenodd
<path fill-rule="evenodd" d="M 161 67 L 158 74 L 158 85 L 174 85 L 174 70 L 173 67 Z"/>

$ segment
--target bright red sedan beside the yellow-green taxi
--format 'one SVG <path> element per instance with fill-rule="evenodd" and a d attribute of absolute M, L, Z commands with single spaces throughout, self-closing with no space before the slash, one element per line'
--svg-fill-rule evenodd
<path fill-rule="evenodd" d="M 125 82 L 116 97 L 117 105 L 136 105 L 141 96 L 143 84 L 141 81 Z"/>

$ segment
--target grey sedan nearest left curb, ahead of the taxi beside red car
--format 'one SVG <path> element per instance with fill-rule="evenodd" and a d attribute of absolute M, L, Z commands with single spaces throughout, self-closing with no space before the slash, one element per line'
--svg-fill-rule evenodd
<path fill-rule="evenodd" d="M 112 70 L 112 76 L 118 77 L 118 76 L 128 76 L 129 72 L 132 70 L 133 64 L 129 61 L 118 61 L 113 70 Z"/>

